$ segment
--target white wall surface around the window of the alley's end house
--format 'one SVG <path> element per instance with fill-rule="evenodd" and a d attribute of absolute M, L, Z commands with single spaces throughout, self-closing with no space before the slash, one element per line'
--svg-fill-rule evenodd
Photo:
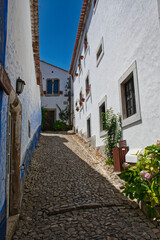
<path fill-rule="evenodd" d="M 59 120 L 59 110 L 57 105 L 61 109 L 65 109 L 68 105 L 64 104 L 67 102 L 68 97 L 64 96 L 65 94 L 65 86 L 68 82 L 69 73 L 61 68 L 53 66 L 51 64 L 45 63 L 43 61 L 40 62 L 40 68 L 42 72 L 42 80 L 43 80 L 43 91 L 46 91 L 47 79 L 59 79 L 60 80 L 60 91 L 63 91 L 62 95 L 58 96 L 42 96 L 42 107 L 47 109 L 56 109 L 56 120 Z"/>

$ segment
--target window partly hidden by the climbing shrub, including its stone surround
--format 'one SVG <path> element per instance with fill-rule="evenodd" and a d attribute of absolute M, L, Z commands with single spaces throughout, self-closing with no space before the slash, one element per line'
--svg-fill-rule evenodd
<path fill-rule="evenodd" d="M 107 96 L 105 96 L 100 103 L 99 106 L 99 122 L 100 122 L 100 136 L 103 137 L 106 135 L 106 132 L 104 131 L 104 125 L 103 125 L 103 118 L 102 114 L 106 112 L 107 109 Z"/>

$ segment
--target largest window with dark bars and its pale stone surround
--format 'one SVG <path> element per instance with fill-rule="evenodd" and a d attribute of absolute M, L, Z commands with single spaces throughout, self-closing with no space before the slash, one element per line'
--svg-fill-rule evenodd
<path fill-rule="evenodd" d="M 122 127 L 141 119 L 137 65 L 134 62 L 119 80 Z"/>

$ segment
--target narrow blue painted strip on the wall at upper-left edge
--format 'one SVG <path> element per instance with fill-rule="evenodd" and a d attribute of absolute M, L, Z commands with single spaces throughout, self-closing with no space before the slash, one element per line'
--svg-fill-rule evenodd
<path fill-rule="evenodd" d="M 8 0 L 0 0 L 0 61 L 5 67 Z"/>

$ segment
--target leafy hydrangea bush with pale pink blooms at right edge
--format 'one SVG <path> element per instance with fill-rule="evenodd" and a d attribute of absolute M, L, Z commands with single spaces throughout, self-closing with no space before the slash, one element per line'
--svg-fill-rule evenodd
<path fill-rule="evenodd" d="M 125 180 L 122 192 L 130 199 L 146 203 L 148 215 L 157 217 L 160 206 L 160 146 L 144 149 L 135 166 L 128 166 L 120 178 Z"/>

